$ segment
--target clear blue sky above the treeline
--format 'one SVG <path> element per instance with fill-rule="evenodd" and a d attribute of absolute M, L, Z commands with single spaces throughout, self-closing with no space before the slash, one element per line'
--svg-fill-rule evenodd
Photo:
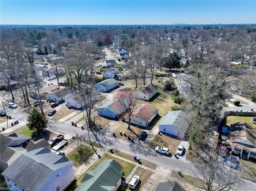
<path fill-rule="evenodd" d="M 1 0 L 0 24 L 256 24 L 255 0 Z"/>

